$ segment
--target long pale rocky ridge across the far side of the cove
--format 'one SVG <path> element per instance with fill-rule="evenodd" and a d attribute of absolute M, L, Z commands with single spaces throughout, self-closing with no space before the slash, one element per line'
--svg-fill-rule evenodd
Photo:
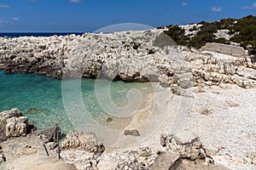
<path fill-rule="evenodd" d="M 166 87 L 177 84 L 189 88 L 221 82 L 256 87 L 256 65 L 249 57 L 190 50 L 175 45 L 161 32 L 0 38 L 0 68 L 6 73 L 19 71 L 55 78 L 153 81 Z"/>

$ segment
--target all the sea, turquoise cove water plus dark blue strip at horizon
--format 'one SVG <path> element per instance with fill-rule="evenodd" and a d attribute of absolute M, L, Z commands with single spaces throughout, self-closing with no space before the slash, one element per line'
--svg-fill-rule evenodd
<path fill-rule="evenodd" d="M 20 36 L 49 37 L 69 34 L 82 35 L 83 33 L 22 32 L 0 33 L 0 36 L 9 38 Z M 148 94 L 153 93 L 153 86 L 149 82 L 96 81 L 90 78 L 57 80 L 38 74 L 21 74 L 18 72 L 5 74 L 3 70 L 0 70 L 0 111 L 18 108 L 24 116 L 28 117 L 29 122 L 38 129 L 47 129 L 58 124 L 62 133 L 76 130 L 77 122 L 73 120 L 73 117 L 78 117 L 84 124 L 87 122 L 86 119 L 90 117 L 102 126 L 122 128 L 129 124 L 131 117 L 119 118 L 117 113 L 113 116 L 109 108 L 106 109 L 106 104 L 107 106 L 108 103 L 109 105 L 116 105 L 117 108 L 120 108 L 119 110 L 115 108 L 117 112 L 122 111 L 122 108 L 131 105 L 131 103 L 136 105 L 139 103 L 137 95 L 134 99 L 128 99 L 129 92 L 134 89 L 142 96 L 143 100 L 138 109 L 143 109 L 148 105 Z M 96 93 L 100 95 L 96 95 Z M 72 97 L 69 97 L 68 100 L 67 96 Z"/>

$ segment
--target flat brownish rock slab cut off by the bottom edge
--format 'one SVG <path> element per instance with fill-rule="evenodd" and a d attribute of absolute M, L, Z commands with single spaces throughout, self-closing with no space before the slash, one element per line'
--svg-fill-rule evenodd
<path fill-rule="evenodd" d="M 177 153 L 161 153 L 156 158 L 154 164 L 150 167 L 151 170 L 175 170 L 181 162 L 181 156 Z"/>

